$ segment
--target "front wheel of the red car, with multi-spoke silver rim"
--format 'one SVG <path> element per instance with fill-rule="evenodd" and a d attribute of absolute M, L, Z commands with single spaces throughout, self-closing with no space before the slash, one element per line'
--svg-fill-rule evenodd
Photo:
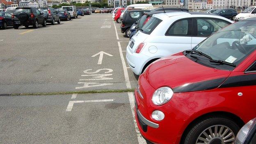
<path fill-rule="evenodd" d="M 224 143 L 225 139 L 233 138 L 235 142 L 235 135 L 238 133 L 240 127 L 233 120 L 223 116 L 207 117 L 201 119 L 192 125 L 185 135 L 185 139 L 181 144 L 197 144 L 218 142 Z M 227 130 L 227 132 L 226 132 Z M 230 136 L 226 137 L 227 135 Z"/>

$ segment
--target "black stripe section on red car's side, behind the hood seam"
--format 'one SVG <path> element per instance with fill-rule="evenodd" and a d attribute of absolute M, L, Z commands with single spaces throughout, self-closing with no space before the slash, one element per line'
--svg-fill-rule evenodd
<path fill-rule="evenodd" d="M 227 78 L 219 88 L 256 85 L 256 74 L 238 75 Z"/>

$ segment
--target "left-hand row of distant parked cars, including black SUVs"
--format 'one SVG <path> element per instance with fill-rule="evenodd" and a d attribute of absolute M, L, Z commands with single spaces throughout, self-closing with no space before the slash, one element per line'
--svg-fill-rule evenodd
<path fill-rule="evenodd" d="M 39 25 L 45 27 L 47 23 L 55 25 L 61 21 L 69 21 L 71 18 L 77 18 L 78 15 L 84 16 L 91 14 L 89 9 L 76 9 L 75 6 L 63 6 L 62 9 L 52 7 L 8 7 L 5 11 L 0 11 L 0 27 L 7 29 L 12 26 L 18 29 L 20 26 Z"/>

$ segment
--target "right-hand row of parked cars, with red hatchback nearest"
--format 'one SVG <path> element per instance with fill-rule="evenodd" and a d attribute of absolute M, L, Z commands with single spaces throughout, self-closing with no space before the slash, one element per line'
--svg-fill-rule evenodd
<path fill-rule="evenodd" d="M 126 10 L 120 25 L 147 144 L 254 144 L 256 18 L 161 10 Z"/>

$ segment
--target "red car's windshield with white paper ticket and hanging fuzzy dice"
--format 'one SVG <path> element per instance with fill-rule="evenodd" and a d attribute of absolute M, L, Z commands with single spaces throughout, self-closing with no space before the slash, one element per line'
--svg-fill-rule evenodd
<path fill-rule="evenodd" d="M 197 45 L 193 50 L 200 51 L 214 60 L 235 64 L 242 62 L 256 49 L 256 23 L 255 21 L 240 21 L 234 23 L 210 36 Z M 234 69 L 233 66 L 215 65 L 219 69 Z"/>

